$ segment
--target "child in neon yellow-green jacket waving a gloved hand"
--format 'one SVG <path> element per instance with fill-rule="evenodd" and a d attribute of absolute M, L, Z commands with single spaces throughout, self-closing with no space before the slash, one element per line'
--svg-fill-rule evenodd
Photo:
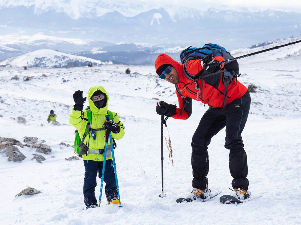
<path fill-rule="evenodd" d="M 78 130 L 80 137 L 83 138 L 88 123 L 87 110 L 83 110 L 86 97 L 82 97 L 82 91 L 75 91 L 73 100 L 75 105 L 70 114 L 69 123 Z M 112 138 L 114 139 L 121 139 L 124 135 L 124 126 L 120 122 L 117 113 L 108 111 L 109 96 L 102 86 L 96 85 L 90 88 L 88 91 L 88 102 L 92 112 L 91 125 L 87 135 L 83 138 L 83 145 L 80 150 L 85 166 L 84 202 L 86 209 L 98 207 L 94 191 L 97 173 L 100 178 L 102 173 L 106 137 L 105 128 L 111 129 Z M 110 113 L 112 114 L 112 120 L 107 120 L 105 116 Z M 109 140 L 108 146 L 111 144 L 113 145 Z M 114 200 L 118 200 L 110 149 L 110 147 L 107 148 L 104 173 L 104 182 L 106 183 L 104 190 L 109 204 Z"/>

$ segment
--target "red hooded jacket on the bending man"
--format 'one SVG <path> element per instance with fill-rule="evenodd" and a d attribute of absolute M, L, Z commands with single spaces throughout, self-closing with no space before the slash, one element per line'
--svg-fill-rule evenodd
<path fill-rule="evenodd" d="M 213 59 L 216 61 L 225 60 L 222 56 L 215 56 L 213 57 Z M 202 70 L 203 67 L 201 66 L 200 61 L 201 59 L 188 61 L 186 66 L 187 72 L 192 75 L 196 75 L 200 70 Z M 179 82 L 176 83 L 175 85 L 178 86 L 178 90 L 181 92 L 181 94 L 184 97 L 188 97 L 188 101 L 191 102 L 191 99 L 194 99 L 196 101 L 201 101 L 204 104 L 208 104 L 208 106 L 212 108 L 223 107 L 224 91 L 225 91 L 225 86 L 224 83 L 222 82 L 223 73 L 213 75 L 209 79 L 197 80 L 197 84 L 199 88 L 202 86 L 202 81 L 203 81 L 203 93 L 202 93 L 203 98 L 201 99 L 200 91 L 197 89 L 196 84 L 194 82 L 191 84 L 192 80 L 185 76 L 183 72 L 183 64 L 179 64 L 177 61 L 173 60 L 170 56 L 166 54 L 161 54 L 157 57 L 155 61 L 156 71 L 163 64 L 171 64 L 178 72 Z M 224 64 L 222 64 L 222 67 L 223 66 Z M 237 98 L 241 98 L 247 92 L 247 90 L 248 88 L 246 86 L 244 86 L 242 83 L 240 83 L 234 78 L 228 86 L 228 91 L 227 91 L 228 98 L 226 104 L 228 105 L 233 100 Z M 176 94 L 178 97 L 179 107 L 176 109 L 176 114 L 172 116 L 172 118 L 188 119 L 188 117 L 191 115 L 191 112 L 185 110 L 186 107 L 182 115 L 180 116 L 185 101 L 177 91 Z"/>

